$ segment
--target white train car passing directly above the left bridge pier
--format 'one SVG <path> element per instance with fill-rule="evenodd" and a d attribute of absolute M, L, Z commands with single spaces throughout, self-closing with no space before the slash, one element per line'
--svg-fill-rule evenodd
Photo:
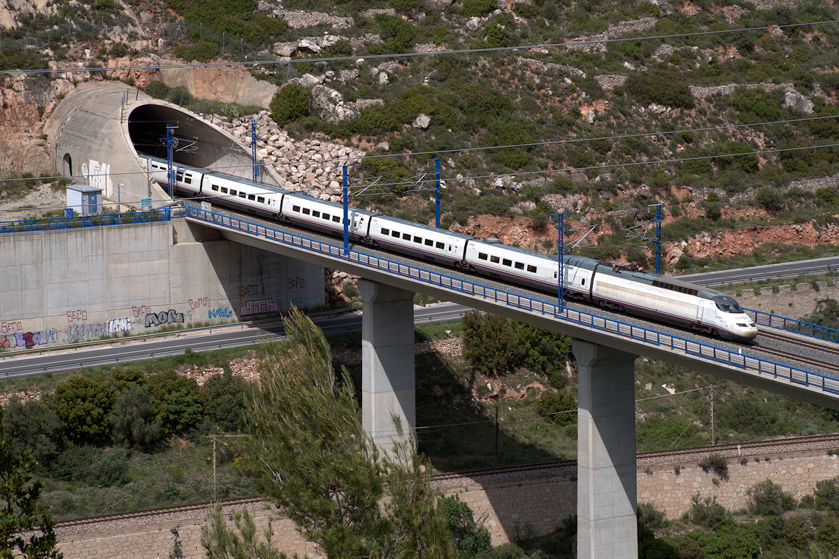
<path fill-rule="evenodd" d="M 466 243 L 474 238 L 386 215 L 373 217 L 369 236 L 382 248 L 461 268 Z"/>

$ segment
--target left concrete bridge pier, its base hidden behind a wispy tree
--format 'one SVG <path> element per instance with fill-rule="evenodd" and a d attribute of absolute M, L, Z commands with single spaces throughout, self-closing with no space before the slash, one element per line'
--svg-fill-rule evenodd
<path fill-rule="evenodd" d="M 387 451 L 396 431 L 416 427 L 414 384 L 414 292 L 361 279 L 362 424 L 378 448 Z"/>

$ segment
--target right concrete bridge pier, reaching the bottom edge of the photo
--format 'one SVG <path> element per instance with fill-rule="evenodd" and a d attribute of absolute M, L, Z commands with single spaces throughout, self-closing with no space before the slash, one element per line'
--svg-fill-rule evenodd
<path fill-rule="evenodd" d="M 636 559 L 635 358 L 578 339 L 577 557 Z"/>

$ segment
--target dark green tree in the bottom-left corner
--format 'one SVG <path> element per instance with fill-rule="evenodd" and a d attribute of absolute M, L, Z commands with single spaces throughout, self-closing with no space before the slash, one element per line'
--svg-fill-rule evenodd
<path fill-rule="evenodd" d="M 8 431 L 0 437 L 0 557 L 60 559 L 53 521 L 39 504 L 41 483 L 29 451 L 16 452 Z"/>

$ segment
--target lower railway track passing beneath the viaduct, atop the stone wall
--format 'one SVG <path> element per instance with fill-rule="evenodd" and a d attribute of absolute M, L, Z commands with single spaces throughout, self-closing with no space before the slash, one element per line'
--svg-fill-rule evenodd
<path fill-rule="evenodd" d="M 826 451 L 833 448 L 839 449 L 839 433 L 774 439 L 753 443 L 719 444 L 700 448 L 663 450 L 638 453 L 638 469 L 657 465 L 701 462 L 701 460 L 708 458 L 711 454 L 719 454 L 724 458 L 732 459 L 751 458 L 768 454 L 784 455 L 807 451 Z M 523 466 L 484 468 L 469 472 L 436 474 L 432 479 L 432 483 L 438 489 L 446 489 L 447 487 L 472 484 L 476 479 L 480 479 L 482 484 L 490 482 L 493 477 L 503 478 L 505 481 L 514 483 L 524 479 L 545 479 L 550 476 L 564 474 L 576 474 L 576 460 L 555 460 L 553 462 L 525 464 Z M 263 499 L 257 497 L 219 501 L 219 504 L 225 510 L 249 505 L 259 506 L 262 503 Z M 148 525 L 174 520 L 201 519 L 206 515 L 206 509 L 209 505 L 209 503 L 197 503 L 194 505 L 165 507 L 163 509 L 65 520 L 55 524 L 55 531 L 61 536 L 112 530 L 129 525 Z"/>

